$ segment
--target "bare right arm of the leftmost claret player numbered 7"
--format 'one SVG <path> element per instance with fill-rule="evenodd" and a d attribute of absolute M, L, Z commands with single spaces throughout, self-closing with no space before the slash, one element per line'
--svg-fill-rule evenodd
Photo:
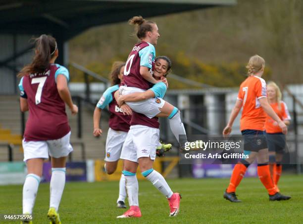
<path fill-rule="evenodd" d="M 68 90 L 66 77 L 62 74 L 59 74 L 57 76 L 56 81 L 57 81 L 57 90 L 60 95 L 60 98 L 68 105 L 69 109 L 72 112 L 72 115 L 77 114 L 78 107 L 75 104 L 73 104 L 70 92 Z"/>

